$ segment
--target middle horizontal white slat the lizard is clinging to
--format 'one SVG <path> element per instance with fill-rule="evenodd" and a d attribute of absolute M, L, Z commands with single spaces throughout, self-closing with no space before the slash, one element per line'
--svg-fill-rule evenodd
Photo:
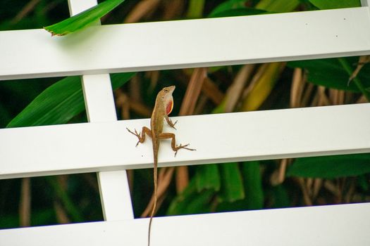
<path fill-rule="evenodd" d="M 370 152 L 370 103 L 173 117 L 179 150 L 161 141 L 159 166 Z M 152 167 L 152 143 L 129 129 L 149 119 L 0 129 L 0 179 Z M 165 124 L 166 125 L 166 124 Z"/>

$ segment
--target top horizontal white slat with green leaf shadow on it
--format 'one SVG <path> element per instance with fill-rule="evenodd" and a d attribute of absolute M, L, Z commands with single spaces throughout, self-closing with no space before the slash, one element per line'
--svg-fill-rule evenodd
<path fill-rule="evenodd" d="M 104 25 L 67 37 L 0 32 L 0 79 L 92 75 L 370 53 L 368 7 Z"/>

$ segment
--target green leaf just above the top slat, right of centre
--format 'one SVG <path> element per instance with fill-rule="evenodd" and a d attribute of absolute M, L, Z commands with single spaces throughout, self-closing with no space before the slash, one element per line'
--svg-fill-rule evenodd
<path fill-rule="evenodd" d="M 226 17 L 226 16 L 240 16 L 240 15 L 258 15 L 260 13 L 266 13 L 264 10 L 256 8 L 247 8 L 245 6 L 246 0 L 239 1 L 226 1 L 218 5 L 209 14 L 209 18 L 215 17 Z"/>

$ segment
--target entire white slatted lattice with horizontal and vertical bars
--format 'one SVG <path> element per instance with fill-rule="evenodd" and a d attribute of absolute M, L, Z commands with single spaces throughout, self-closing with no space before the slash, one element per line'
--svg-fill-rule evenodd
<path fill-rule="evenodd" d="M 96 1 L 69 4 L 75 14 Z M 152 146 L 135 148 L 125 127 L 149 119 L 117 121 L 106 73 L 369 55 L 370 11 L 363 1 L 328 11 L 97 25 L 68 37 L 6 31 L 0 42 L 0 79 L 82 75 L 90 122 L 0 129 L 0 179 L 99 171 L 106 219 L 1 230 L 0 244 L 146 245 L 148 220 L 133 219 L 125 169 L 152 167 Z M 178 139 L 197 151 L 173 157 L 163 143 L 159 166 L 370 152 L 369 112 L 367 103 L 179 117 Z M 369 231 L 364 203 L 161 217 L 152 245 L 370 245 Z"/>

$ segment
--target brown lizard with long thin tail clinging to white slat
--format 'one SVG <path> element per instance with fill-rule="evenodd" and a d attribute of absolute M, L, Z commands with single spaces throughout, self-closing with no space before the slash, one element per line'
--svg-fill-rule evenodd
<path fill-rule="evenodd" d="M 173 109 L 173 96 L 172 93 L 175 90 L 175 86 L 168 86 L 164 87 L 161 91 L 159 91 L 158 95 L 156 96 L 156 103 L 154 105 L 154 110 L 152 112 L 152 117 L 150 118 L 150 129 L 147 127 L 142 127 L 142 131 L 135 132 L 130 131 L 130 129 L 126 128 L 130 134 L 137 136 L 139 141 L 137 141 L 136 146 L 139 143 L 144 143 L 145 141 L 145 134 L 152 138 L 153 144 L 153 157 L 154 157 L 154 169 L 153 169 L 153 179 L 154 179 L 154 205 L 152 207 L 152 212 L 150 214 L 149 219 L 149 229 L 148 229 L 148 246 L 150 245 L 150 231 L 152 228 L 152 219 L 154 213 L 156 211 L 156 200 L 157 200 L 157 166 L 158 166 L 158 151 L 159 151 L 159 143 L 162 139 L 171 138 L 171 148 L 175 152 L 175 156 L 178 153 L 178 150 L 184 148 L 186 150 L 195 150 L 192 148 L 187 148 L 189 144 L 185 145 L 176 145 L 175 134 L 163 132 L 164 128 L 164 119 L 166 119 L 167 124 L 175 129 L 175 123 L 171 121 L 168 115 L 171 113 Z"/>

